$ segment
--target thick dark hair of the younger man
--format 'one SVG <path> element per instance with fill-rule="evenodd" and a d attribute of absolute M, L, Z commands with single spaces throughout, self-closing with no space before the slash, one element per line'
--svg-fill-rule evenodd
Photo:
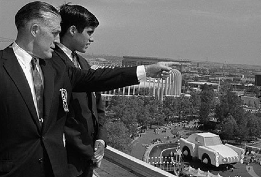
<path fill-rule="evenodd" d="M 77 28 L 79 33 L 82 33 L 87 26 L 96 28 L 99 25 L 98 19 L 85 7 L 67 3 L 58 8 L 60 9 L 59 13 L 62 17 L 60 37 L 62 37 L 72 25 Z"/>

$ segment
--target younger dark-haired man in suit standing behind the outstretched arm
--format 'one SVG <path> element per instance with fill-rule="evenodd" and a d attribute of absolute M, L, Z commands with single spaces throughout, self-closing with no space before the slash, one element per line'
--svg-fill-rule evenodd
<path fill-rule="evenodd" d="M 86 52 L 91 35 L 99 25 L 97 18 L 79 5 L 63 4 L 60 41 L 55 52 L 68 65 L 89 70 L 89 63 L 77 52 Z M 74 56 L 73 56 L 74 55 Z M 74 60 L 76 59 L 76 60 Z M 101 164 L 106 147 L 105 112 L 99 92 L 72 93 L 65 127 L 66 149 L 71 177 L 91 177 Z M 73 110 L 73 111 L 72 111 Z"/>

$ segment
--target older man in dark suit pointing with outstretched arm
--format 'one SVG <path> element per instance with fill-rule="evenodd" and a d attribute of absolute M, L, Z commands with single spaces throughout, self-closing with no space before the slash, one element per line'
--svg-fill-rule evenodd
<path fill-rule="evenodd" d="M 63 131 L 72 91 L 134 85 L 144 68 L 152 77 L 170 73 L 166 63 L 87 71 L 50 59 L 60 23 L 52 5 L 28 3 L 15 16 L 15 42 L 0 51 L 1 177 L 68 176 Z"/>

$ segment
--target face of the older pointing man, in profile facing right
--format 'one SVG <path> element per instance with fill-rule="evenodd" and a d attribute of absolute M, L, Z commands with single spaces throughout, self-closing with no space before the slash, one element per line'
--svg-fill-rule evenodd
<path fill-rule="evenodd" d="M 55 43 L 60 43 L 61 19 L 54 18 L 44 23 L 39 23 L 39 31 L 35 36 L 32 55 L 46 59 L 52 57 Z"/>

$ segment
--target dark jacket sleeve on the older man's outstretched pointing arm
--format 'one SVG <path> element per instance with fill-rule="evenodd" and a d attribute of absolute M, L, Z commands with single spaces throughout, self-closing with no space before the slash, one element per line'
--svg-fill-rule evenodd
<path fill-rule="evenodd" d="M 68 66 L 73 92 L 107 91 L 139 84 L 137 67 L 80 70 Z"/>

